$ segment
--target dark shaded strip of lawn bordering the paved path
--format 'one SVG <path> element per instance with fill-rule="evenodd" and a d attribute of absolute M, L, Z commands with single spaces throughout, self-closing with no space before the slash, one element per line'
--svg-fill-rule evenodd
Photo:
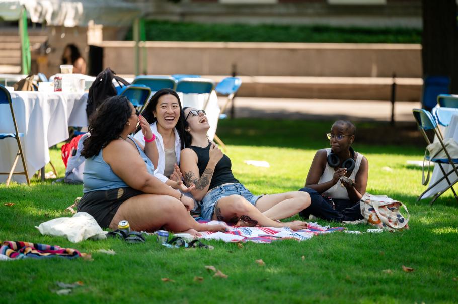
<path fill-rule="evenodd" d="M 218 123 L 218 136 L 227 145 L 323 149 L 333 121 L 227 119 Z M 355 148 L 364 153 L 418 155 L 424 139 L 413 123 L 392 127 L 386 122 L 356 124 Z"/>

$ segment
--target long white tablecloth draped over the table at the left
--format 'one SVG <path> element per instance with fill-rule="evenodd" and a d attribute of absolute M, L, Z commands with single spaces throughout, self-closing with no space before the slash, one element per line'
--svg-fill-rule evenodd
<path fill-rule="evenodd" d="M 87 94 L 12 92 L 13 109 L 20 133 L 26 165 L 31 177 L 49 162 L 48 148 L 68 138 L 68 126 L 86 126 Z M 0 132 L 14 132 L 13 120 L 8 104 L 0 105 Z M 18 151 L 16 140 L 0 141 L 0 171 L 10 171 Z M 18 161 L 15 171 L 23 171 Z M 7 175 L 0 176 L 4 182 Z M 25 177 L 13 175 L 13 180 L 25 182 Z"/>

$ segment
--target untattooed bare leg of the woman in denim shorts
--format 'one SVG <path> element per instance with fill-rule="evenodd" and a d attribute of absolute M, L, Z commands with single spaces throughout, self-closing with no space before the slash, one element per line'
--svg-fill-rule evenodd
<path fill-rule="evenodd" d="M 289 218 L 309 206 L 309 193 L 301 191 L 264 195 L 255 205 L 259 211 L 272 220 Z"/>

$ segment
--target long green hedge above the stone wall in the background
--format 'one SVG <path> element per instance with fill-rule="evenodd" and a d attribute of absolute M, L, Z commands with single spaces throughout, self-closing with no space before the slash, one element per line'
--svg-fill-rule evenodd
<path fill-rule="evenodd" d="M 421 43 L 409 28 L 206 24 L 147 20 L 148 41 Z M 132 40 L 132 31 L 126 40 Z"/>

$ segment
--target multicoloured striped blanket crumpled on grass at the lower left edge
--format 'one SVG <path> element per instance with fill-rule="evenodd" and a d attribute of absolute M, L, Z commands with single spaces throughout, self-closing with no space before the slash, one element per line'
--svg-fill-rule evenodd
<path fill-rule="evenodd" d="M 51 246 L 46 244 L 5 241 L 0 247 L 0 255 L 4 255 L 10 259 L 24 258 L 52 258 L 61 257 L 73 259 L 81 257 L 78 250 L 72 248 L 61 248 L 59 246 Z"/>

